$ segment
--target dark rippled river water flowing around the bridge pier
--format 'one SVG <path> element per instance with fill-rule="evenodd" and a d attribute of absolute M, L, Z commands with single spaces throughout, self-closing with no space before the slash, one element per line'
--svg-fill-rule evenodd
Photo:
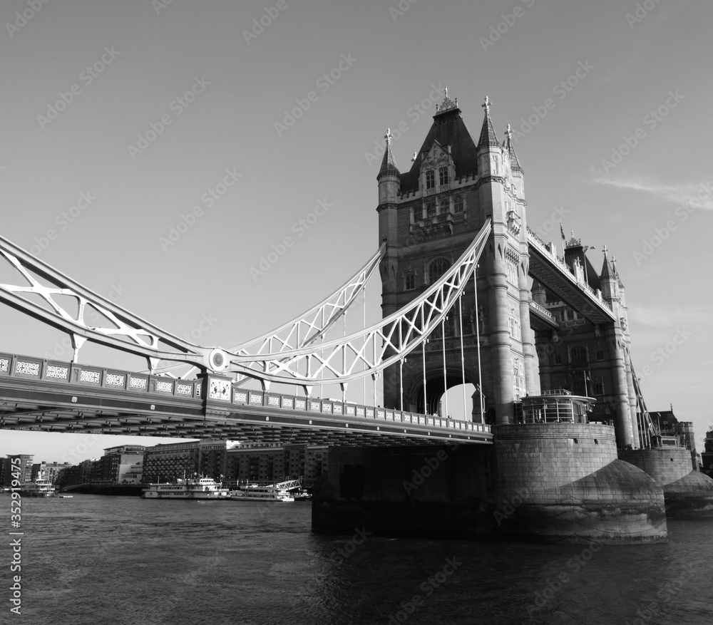
<path fill-rule="evenodd" d="M 7 546 L 2 623 L 713 624 L 713 520 L 590 548 L 320 536 L 302 502 L 74 495 L 22 517 L 22 616 Z"/>

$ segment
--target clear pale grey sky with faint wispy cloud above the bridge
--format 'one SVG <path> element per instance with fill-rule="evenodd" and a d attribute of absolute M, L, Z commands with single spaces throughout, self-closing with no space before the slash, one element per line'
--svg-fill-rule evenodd
<path fill-rule="evenodd" d="M 597 248 L 597 268 L 604 244 L 615 255 L 647 405 L 672 403 L 702 448 L 712 23 L 703 0 L 9 0 L 0 231 L 153 324 L 230 347 L 308 309 L 375 251 L 387 127 L 407 170 L 434 86 L 476 136 L 488 95 L 498 137 L 515 131 L 528 224 L 561 249 L 561 217 Z M 329 210 L 315 221 L 318 202 Z M 367 302 L 376 321 L 378 284 Z M 0 305 L 0 351 L 69 360 L 62 338 Z M 81 361 L 145 366 L 92 346 Z M 0 430 L 0 454 L 61 460 L 82 439 Z"/>

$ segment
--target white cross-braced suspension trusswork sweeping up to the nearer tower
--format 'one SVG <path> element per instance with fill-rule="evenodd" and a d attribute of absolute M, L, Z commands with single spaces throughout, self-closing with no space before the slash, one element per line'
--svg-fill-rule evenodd
<path fill-rule="evenodd" d="M 264 386 L 282 382 L 310 387 L 327 381 L 344 388 L 349 381 L 376 376 L 426 341 L 465 289 L 490 227 L 488 220 L 458 262 L 411 304 L 379 324 L 319 347 L 314 342 L 324 336 L 364 289 L 384 256 L 383 245 L 352 280 L 329 298 L 279 329 L 230 350 L 197 346 L 165 332 L 3 237 L 0 254 L 27 284 L 0 284 L 0 301 L 67 331 L 72 337 L 75 358 L 81 344 L 91 340 L 145 356 L 152 371 L 159 361 L 168 360 L 203 370 L 237 373 L 244 379 L 260 380 Z M 64 301 L 65 297 L 73 306 Z M 91 309 L 103 317 L 108 327 L 87 322 L 86 313 Z"/>

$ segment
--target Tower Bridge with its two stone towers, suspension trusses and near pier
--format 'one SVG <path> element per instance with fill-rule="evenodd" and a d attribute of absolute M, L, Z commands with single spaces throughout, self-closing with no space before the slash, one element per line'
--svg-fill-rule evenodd
<path fill-rule="evenodd" d="M 327 443 L 318 530 L 665 539 L 663 491 L 617 459 L 650 446 L 652 423 L 615 259 L 605 248 L 597 272 L 574 236 L 560 257 L 528 227 L 510 128 L 498 140 L 483 108 L 475 141 L 446 91 L 408 172 L 387 132 L 377 252 L 307 313 L 232 348 L 180 339 L 0 237 L 17 278 L 0 301 L 74 349 L 70 363 L 0 353 L 0 428 Z M 337 336 L 377 269 L 383 319 Z M 143 356 L 148 372 L 83 365 L 86 341 Z M 195 379 L 171 376 L 176 363 Z M 383 381 L 383 406 L 376 391 L 371 405 L 347 399 L 366 378 Z M 472 413 L 449 418 L 446 391 L 468 383 Z M 315 396 L 323 385 L 342 397 Z M 433 458 L 443 470 L 404 492 Z M 496 527 L 515 493 L 523 506 Z"/>

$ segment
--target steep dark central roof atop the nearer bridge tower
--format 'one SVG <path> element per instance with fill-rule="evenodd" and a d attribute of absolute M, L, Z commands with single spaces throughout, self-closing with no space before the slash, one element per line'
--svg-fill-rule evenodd
<path fill-rule="evenodd" d="M 451 146 L 451 157 L 456 165 L 456 176 L 476 175 L 478 172 L 476 144 L 473 143 L 471 133 L 468 132 L 468 128 L 461 118 L 458 99 L 448 98 L 448 88 L 446 88 L 446 97 L 437 107 L 434 123 L 421 145 L 421 150 L 414 154 L 414 164 L 411 165 L 408 172 L 401 174 L 402 192 L 415 191 L 419 188 L 421 162 L 424 154 L 428 153 L 434 145 L 434 141 L 438 141 L 443 148 Z"/>

